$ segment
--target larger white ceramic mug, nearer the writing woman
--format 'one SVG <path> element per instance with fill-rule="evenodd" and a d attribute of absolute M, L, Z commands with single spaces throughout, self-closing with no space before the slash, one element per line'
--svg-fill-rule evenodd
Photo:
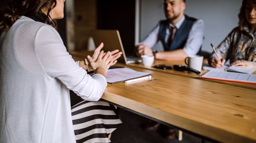
<path fill-rule="evenodd" d="M 201 71 L 203 65 L 203 56 L 188 56 L 185 58 L 185 64 L 195 70 Z"/>

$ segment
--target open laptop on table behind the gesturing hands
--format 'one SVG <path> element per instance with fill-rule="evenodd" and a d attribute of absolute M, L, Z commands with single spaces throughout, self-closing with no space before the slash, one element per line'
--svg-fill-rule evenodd
<path fill-rule="evenodd" d="M 123 54 L 120 58 L 117 59 L 120 63 L 132 64 L 132 63 L 141 63 L 141 58 L 135 56 L 127 56 L 123 49 L 122 40 L 118 30 L 93 30 L 91 35 L 95 44 L 95 47 L 99 46 L 101 42 L 104 43 L 102 50 L 113 51 L 118 49 L 122 51 Z"/>

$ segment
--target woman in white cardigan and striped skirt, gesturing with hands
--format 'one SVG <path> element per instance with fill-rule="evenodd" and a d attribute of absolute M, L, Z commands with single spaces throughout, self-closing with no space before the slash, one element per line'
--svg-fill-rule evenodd
<path fill-rule="evenodd" d="M 113 106 L 98 101 L 107 69 L 122 53 L 104 53 L 101 44 L 92 57 L 74 61 L 53 28 L 64 1 L 1 0 L 1 143 L 105 143 L 122 123 Z M 86 100 L 72 114 L 69 90 Z"/>

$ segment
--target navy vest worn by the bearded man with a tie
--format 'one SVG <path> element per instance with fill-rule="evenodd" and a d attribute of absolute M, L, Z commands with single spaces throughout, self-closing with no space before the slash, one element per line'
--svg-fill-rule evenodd
<path fill-rule="evenodd" d="M 158 32 L 158 38 L 159 38 L 159 40 L 161 40 L 161 42 L 163 44 L 164 51 L 173 51 L 176 49 L 183 48 L 187 42 L 187 38 L 188 38 L 188 34 L 190 32 L 190 29 L 196 20 L 197 19 L 194 19 L 194 18 L 191 18 L 191 17 L 188 17 L 187 15 L 185 15 L 185 20 L 181 24 L 180 28 L 176 31 L 176 33 L 174 35 L 173 42 L 171 43 L 170 47 L 167 45 L 167 43 L 164 42 L 166 30 L 167 30 L 167 28 L 169 28 L 169 22 L 168 22 L 168 20 L 161 21 L 159 32 Z M 201 53 L 201 47 L 197 54 Z"/>

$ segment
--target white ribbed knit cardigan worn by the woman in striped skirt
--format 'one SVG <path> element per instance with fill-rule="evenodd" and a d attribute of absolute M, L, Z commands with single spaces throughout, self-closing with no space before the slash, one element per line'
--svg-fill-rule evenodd
<path fill-rule="evenodd" d="M 96 101 L 106 85 L 52 26 L 22 16 L 0 37 L 0 143 L 75 143 L 69 89 Z"/>

